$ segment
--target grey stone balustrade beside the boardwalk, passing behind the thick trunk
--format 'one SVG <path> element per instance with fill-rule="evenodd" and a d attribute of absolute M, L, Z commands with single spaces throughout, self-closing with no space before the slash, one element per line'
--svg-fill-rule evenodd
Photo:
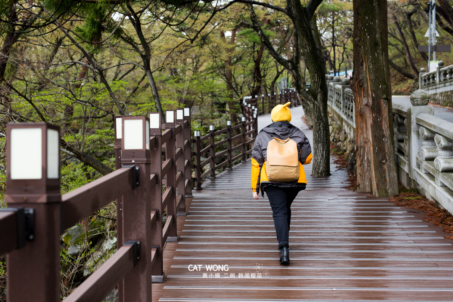
<path fill-rule="evenodd" d="M 327 81 L 329 112 L 340 115 L 342 124 L 354 130 L 354 105 L 347 103 L 353 101 L 352 93 L 346 101 L 347 81 L 332 76 Z M 453 123 L 434 116 L 430 97 L 419 89 L 411 94 L 410 107 L 392 102 L 398 179 L 453 213 Z"/>

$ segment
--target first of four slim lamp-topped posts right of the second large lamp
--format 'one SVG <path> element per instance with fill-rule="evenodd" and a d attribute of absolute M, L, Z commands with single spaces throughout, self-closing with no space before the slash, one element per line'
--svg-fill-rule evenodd
<path fill-rule="evenodd" d="M 149 135 L 154 144 L 149 146 L 151 164 L 149 170 L 153 182 L 150 184 L 151 211 L 157 210 L 156 223 L 151 226 L 151 246 L 157 246 L 158 255 L 154 262 L 151 278 L 153 283 L 163 283 L 165 279 L 162 245 L 162 117 L 160 112 L 149 112 Z M 154 176 L 154 178 L 153 178 Z M 155 180 L 154 180 L 155 179 Z M 126 299 L 125 302 L 128 300 Z"/>

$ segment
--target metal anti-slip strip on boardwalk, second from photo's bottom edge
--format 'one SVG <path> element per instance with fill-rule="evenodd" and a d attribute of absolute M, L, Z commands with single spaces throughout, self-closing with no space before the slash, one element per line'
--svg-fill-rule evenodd
<path fill-rule="evenodd" d="M 303 288 L 264 286 L 164 286 L 164 289 L 222 289 L 222 290 L 296 290 L 296 291 L 397 291 L 397 292 L 453 292 L 453 288 Z"/>

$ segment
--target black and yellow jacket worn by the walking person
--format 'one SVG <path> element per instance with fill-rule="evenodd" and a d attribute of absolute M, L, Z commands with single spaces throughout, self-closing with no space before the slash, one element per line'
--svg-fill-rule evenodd
<path fill-rule="evenodd" d="M 274 187 L 297 187 L 301 190 L 305 189 L 307 185 L 307 179 L 305 178 L 304 167 L 299 165 L 299 179 L 293 182 L 270 182 L 267 179 L 265 161 L 266 149 L 272 137 L 278 139 L 292 139 L 297 144 L 299 151 L 299 162 L 304 164 L 311 163 L 312 152 L 310 142 L 298 127 L 288 122 L 274 122 L 265 128 L 261 129 L 260 133 L 256 136 L 255 144 L 252 150 L 252 175 L 251 175 L 251 187 L 253 192 L 260 192 L 266 186 L 272 185 Z"/>

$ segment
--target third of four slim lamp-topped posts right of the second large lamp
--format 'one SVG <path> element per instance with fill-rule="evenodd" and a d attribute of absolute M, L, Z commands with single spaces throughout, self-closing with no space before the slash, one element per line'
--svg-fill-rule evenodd
<path fill-rule="evenodd" d="M 183 109 L 178 109 L 176 110 L 176 125 L 180 125 L 182 127 L 181 132 L 176 134 L 176 148 L 181 148 L 181 155 L 178 157 L 178 160 L 176 161 L 176 171 L 179 173 L 181 171 L 181 180 L 178 183 L 178 187 L 176 188 L 176 193 L 179 196 L 181 196 L 182 201 L 181 201 L 181 206 L 180 208 L 176 209 L 178 212 L 178 216 L 186 216 L 186 197 L 185 197 L 185 191 L 186 191 L 186 177 L 185 177 L 185 168 L 184 168 L 184 110 Z M 178 198 L 176 198 L 178 202 Z"/>

